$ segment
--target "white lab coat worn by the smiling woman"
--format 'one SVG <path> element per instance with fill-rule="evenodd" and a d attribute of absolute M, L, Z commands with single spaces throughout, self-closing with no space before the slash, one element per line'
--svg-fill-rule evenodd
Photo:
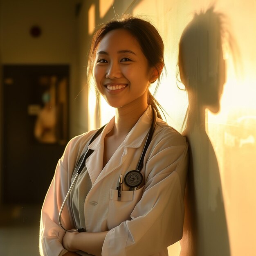
<path fill-rule="evenodd" d="M 115 119 L 90 145 L 94 150 L 86 160 L 92 188 L 84 203 L 88 232 L 110 230 L 105 238 L 103 256 L 165 256 L 167 247 L 182 238 L 184 190 L 188 164 L 186 138 L 161 119 L 144 158 L 144 182 L 136 191 L 123 184 L 117 200 L 120 174 L 137 168 L 152 119 L 151 107 L 138 120 L 115 154 L 102 169 L 104 137 Z M 47 192 L 40 222 L 40 254 L 58 256 L 67 252 L 62 246 L 65 234 L 58 224 L 58 213 L 71 183 L 74 167 L 88 147 L 95 131 L 73 138 Z M 62 223 L 74 228 L 70 202 L 62 213 Z"/>

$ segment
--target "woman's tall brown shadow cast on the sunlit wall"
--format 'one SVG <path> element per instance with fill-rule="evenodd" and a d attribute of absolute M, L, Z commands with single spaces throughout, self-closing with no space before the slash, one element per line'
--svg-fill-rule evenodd
<path fill-rule="evenodd" d="M 219 111 L 226 81 L 223 17 L 213 7 L 195 14 L 179 44 L 180 78 L 189 98 L 184 135 L 190 144 L 180 256 L 230 255 L 219 167 L 205 127 L 205 110 Z"/>

